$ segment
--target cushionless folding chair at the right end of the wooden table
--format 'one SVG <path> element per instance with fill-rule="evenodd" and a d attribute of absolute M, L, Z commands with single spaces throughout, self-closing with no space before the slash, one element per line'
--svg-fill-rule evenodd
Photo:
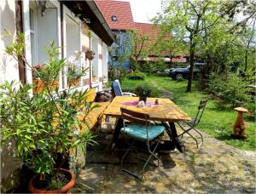
<path fill-rule="evenodd" d="M 195 137 L 194 137 L 192 134 L 189 133 L 189 131 L 192 130 L 192 129 L 194 129 L 197 134 L 200 134 L 200 136 L 201 136 L 201 144 L 203 144 L 203 142 L 204 142 L 204 141 L 203 141 L 203 136 L 202 136 L 202 134 L 195 128 L 195 126 L 198 125 L 198 124 L 200 123 L 200 121 L 201 121 L 202 114 L 203 114 L 203 112 L 205 111 L 205 108 L 206 108 L 206 106 L 207 106 L 207 101 L 208 101 L 207 99 L 200 101 L 200 105 L 198 106 L 198 111 L 197 111 L 197 114 L 196 114 L 196 116 L 195 116 L 195 119 L 191 119 L 190 122 L 178 122 L 178 123 L 177 123 L 177 124 L 179 125 L 179 127 L 183 129 L 183 133 L 182 133 L 182 134 L 179 134 L 179 135 L 177 135 L 177 136 L 178 136 L 178 137 L 180 137 L 180 136 L 183 137 L 183 134 L 189 134 L 189 136 L 192 137 L 192 138 L 195 140 L 197 148 L 199 148 L 198 142 L 197 142 L 197 140 L 195 139 Z M 200 144 L 200 145 L 201 145 L 201 144 Z"/>

